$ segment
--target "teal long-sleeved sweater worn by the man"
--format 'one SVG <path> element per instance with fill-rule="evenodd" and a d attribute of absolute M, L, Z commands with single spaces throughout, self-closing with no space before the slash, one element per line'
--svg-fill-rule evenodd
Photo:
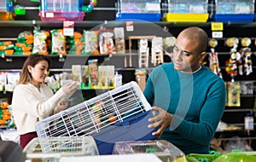
<path fill-rule="evenodd" d="M 173 63 L 155 67 L 143 94 L 151 105 L 173 114 L 160 139 L 183 153 L 208 153 L 225 107 L 224 81 L 207 67 L 193 74 L 174 69 Z"/>

